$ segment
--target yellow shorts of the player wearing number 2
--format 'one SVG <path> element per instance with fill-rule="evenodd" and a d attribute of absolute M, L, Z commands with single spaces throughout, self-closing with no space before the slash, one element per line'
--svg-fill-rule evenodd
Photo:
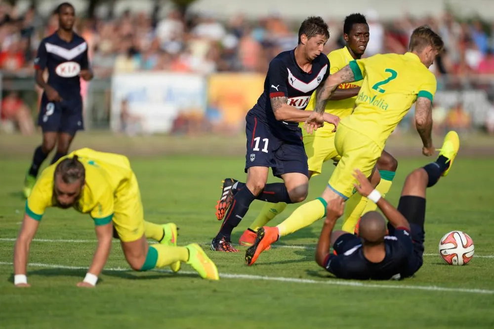
<path fill-rule="evenodd" d="M 382 150 L 369 137 L 342 124 L 339 124 L 336 130 L 334 146 L 341 160 L 334 169 L 328 185 L 334 192 L 348 199 L 356 192 L 353 186 L 353 183 L 356 183 L 353 177 L 354 170 L 360 169 L 364 175 L 370 177 Z"/>

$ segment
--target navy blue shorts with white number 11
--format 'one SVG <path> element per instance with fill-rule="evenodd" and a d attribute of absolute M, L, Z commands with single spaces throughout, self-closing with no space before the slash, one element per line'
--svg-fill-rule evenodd
<path fill-rule="evenodd" d="M 300 173 L 309 176 L 307 155 L 300 133 L 300 143 L 277 138 L 270 127 L 250 113 L 246 116 L 247 154 L 245 172 L 250 167 L 271 167 L 273 176 Z"/>

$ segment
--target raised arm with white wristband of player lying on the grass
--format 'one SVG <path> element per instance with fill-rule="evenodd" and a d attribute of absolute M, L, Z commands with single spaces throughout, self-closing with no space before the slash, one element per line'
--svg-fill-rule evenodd
<path fill-rule="evenodd" d="M 403 216 L 398 209 L 386 199 L 381 197 L 380 193 L 372 187 L 371 182 L 369 182 L 367 177 L 365 177 L 360 170 L 356 169 L 353 177 L 358 181 L 358 183 L 354 183 L 357 192 L 366 198 L 369 198 L 372 202 L 375 202 L 391 225 L 394 227 L 404 227 L 407 230 L 410 230 L 410 223 L 405 216 Z"/>

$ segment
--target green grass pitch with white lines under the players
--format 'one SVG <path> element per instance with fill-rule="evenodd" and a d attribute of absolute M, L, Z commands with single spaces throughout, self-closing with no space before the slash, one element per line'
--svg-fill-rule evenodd
<path fill-rule="evenodd" d="M 29 156 L 0 160 L 1 328 L 494 328 L 494 159 L 460 156 L 450 176 L 429 190 L 426 256 L 415 278 L 361 282 L 331 278 L 315 263 L 322 222 L 284 238 L 252 267 L 244 265 L 245 248 L 239 254 L 209 250 L 220 226 L 214 205 L 221 179 L 245 179 L 242 156 L 131 158 L 146 219 L 176 222 L 179 244 L 199 242 L 216 262 L 220 281 L 202 280 L 188 265 L 178 275 L 132 272 L 116 242 L 97 288 L 77 288 L 96 245 L 92 220 L 49 209 L 31 245 L 32 287 L 16 289 L 12 249 Z M 400 160 L 388 197 L 394 204 L 406 175 L 427 161 Z M 322 191 L 332 166 L 325 170 L 311 182 L 308 200 Z M 261 206 L 254 202 L 234 242 Z M 440 238 L 451 230 L 465 231 L 475 243 L 465 266 L 446 265 L 437 254 Z"/>

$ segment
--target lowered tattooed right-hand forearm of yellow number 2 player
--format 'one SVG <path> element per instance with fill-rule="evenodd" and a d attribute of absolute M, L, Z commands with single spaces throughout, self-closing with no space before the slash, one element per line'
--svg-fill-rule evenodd
<path fill-rule="evenodd" d="M 432 146 L 432 102 L 426 97 L 418 97 L 415 103 L 415 125 L 424 147 L 422 153 L 431 156 Z"/>

